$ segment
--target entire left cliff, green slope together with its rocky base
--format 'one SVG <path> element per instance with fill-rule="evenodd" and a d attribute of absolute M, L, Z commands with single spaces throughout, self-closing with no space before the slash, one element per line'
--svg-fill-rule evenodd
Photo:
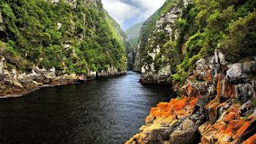
<path fill-rule="evenodd" d="M 100 0 L 1 1 L 0 8 L 1 95 L 126 72 L 125 34 Z"/>

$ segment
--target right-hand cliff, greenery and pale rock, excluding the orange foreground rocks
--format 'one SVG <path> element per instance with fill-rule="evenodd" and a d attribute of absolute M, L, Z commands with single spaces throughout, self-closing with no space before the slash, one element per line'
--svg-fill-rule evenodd
<path fill-rule="evenodd" d="M 230 57 L 234 59 L 232 62 L 244 58 L 236 51 L 241 49 L 239 47 L 254 46 L 250 34 L 243 33 L 244 30 L 253 30 L 254 26 L 246 24 L 239 31 L 242 33 L 235 33 L 238 32 L 236 25 L 240 23 L 238 19 L 252 13 L 254 7 L 255 2 L 251 0 L 166 1 L 142 26 L 134 62 L 134 70 L 142 72 L 141 82 L 166 83 L 167 78 L 170 82 L 184 82 L 194 63 L 214 54 L 218 44 L 226 54 L 234 52 L 238 56 Z M 233 41 L 234 38 L 238 38 L 238 42 Z M 239 44 L 245 41 L 248 45 Z M 255 53 L 251 48 L 240 51 L 246 56 Z"/>

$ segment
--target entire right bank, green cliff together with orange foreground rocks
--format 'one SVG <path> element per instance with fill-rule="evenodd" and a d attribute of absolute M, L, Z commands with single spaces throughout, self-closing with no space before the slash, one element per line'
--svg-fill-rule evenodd
<path fill-rule="evenodd" d="M 176 94 L 126 143 L 256 142 L 255 7 L 166 1 L 145 22 L 134 69 L 141 82 L 171 82 Z"/>

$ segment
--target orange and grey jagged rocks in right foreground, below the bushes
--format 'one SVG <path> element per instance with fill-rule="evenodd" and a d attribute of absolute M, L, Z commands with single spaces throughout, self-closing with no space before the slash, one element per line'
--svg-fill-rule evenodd
<path fill-rule="evenodd" d="M 126 144 L 256 142 L 256 61 L 227 64 L 215 50 L 196 68 L 170 102 L 151 108 L 138 134 Z"/>

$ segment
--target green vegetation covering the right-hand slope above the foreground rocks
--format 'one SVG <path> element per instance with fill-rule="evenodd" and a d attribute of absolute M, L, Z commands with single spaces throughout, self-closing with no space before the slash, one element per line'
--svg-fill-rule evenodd
<path fill-rule="evenodd" d="M 154 32 L 156 21 L 174 7 L 182 9 L 180 18 L 171 25 L 178 34 L 168 38 L 165 32 Z M 167 0 L 142 26 L 144 62 L 152 61 L 147 58 L 150 57 L 147 51 L 160 46 L 160 54 L 154 60 L 155 69 L 170 64 L 173 75 L 169 80 L 182 84 L 195 62 L 212 56 L 217 48 L 226 54 L 228 62 L 253 57 L 256 54 L 255 8 L 254 0 L 194 0 L 187 6 L 182 6 L 179 0 Z"/>

